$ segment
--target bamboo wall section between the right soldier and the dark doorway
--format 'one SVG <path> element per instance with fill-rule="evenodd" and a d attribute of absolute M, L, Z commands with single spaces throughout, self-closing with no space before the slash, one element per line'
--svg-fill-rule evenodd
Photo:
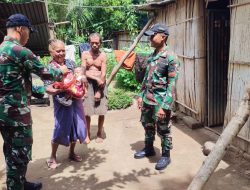
<path fill-rule="evenodd" d="M 168 44 L 180 55 L 182 61 L 177 101 L 196 110 L 198 114 L 181 105 L 179 109 L 205 123 L 207 107 L 204 19 L 204 1 L 177 0 L 158 12 L 156 22 L 169 26 Z"/>

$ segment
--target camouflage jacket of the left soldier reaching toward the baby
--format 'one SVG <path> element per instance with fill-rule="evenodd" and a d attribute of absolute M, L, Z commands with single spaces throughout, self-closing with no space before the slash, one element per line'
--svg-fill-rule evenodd
<path fill-rule="evenodd" d="M 0 45 L 0 127 L 32 124 L 31 73 L 47 80 L 62 78 L 59 69 L 47 70 L 29 49 L 6 36 Z"/>

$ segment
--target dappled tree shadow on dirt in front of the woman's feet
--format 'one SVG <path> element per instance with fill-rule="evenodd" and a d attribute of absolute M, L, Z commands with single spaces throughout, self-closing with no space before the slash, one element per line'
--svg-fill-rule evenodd
<path fill-rule="evenodd" d="M 56 170 L 48 170 L 45 166 L 45 159 L 39 159 L 29 165 L 29 171 L 37 171 L 36 173 L 32 172 L 32 178 L 42 181 L 43 189 L 45 190 L 124 189 L 126 183 L 139 183 L 139 177 L 150 178 L 152 175 L 157 174 L 156 172 L 150 171 L 149 168 L 132 170 L 125 175 L 120 172 L 113 172 L 113 178 L 106 181 L 100 181 L 94 172 L 92 172 L 92 174 L 86 174 L 90 172 L 90 170 L 94 171 L 101 166 L 102 163 L 107 161 L 105 154 L 108 154 L 107 150 L 88 149 L 82 162 L 69 162 L 67 159 L 62 159 L 60 160 L 61 165 Z M 61 157 L 65 158 L 66 156 L 67 154 L 61 155 Z M 48 184 L 50 184 L 51 187 Z"/>

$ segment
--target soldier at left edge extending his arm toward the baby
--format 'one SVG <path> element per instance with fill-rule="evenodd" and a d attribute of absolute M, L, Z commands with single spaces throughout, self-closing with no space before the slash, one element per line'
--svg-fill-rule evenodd
<path fill-rule="evenodd" d="M 23 47 L 30 33 L 35 31 L 26 16 L 10 16 L 6 27 L 7 36 L 0 45 L 0 132 L 4 140 L 7 189 L 41 189 L 41 183 L 31 183 L 25 178 L 33 142 L 29 108 L 31 73 L 42 79 L 61 80 L 67 68 L 47 70 Z"/>

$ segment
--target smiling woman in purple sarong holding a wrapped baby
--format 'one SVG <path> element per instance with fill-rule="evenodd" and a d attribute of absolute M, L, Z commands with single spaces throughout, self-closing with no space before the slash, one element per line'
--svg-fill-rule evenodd
<path fill-rule="evenodd" d="M 61 40 L 50 40 L 49 51 L 52 61 L 49 67 L 66 65 L 73 73 L 75 64 L 71 60 L 65 59 L 65 45 Z M 86 119 L 82 104 L 82 99 L 69 98 L 67 92 L 62 89 L 55 89 L 52 83 L 48 83 L 46 92 L 53 95 L 55 128 L 51 141 L 52 152 L 47 160 L 49 168 L 55 169 L 58 166 L 56 152 L 59 145 L 70 146 L 69 159 L 80 162 L 81 156 L 75 153 L 76 141 L 85 141 Z M 65 98 L 67 97 L 67 98 Z"/>

